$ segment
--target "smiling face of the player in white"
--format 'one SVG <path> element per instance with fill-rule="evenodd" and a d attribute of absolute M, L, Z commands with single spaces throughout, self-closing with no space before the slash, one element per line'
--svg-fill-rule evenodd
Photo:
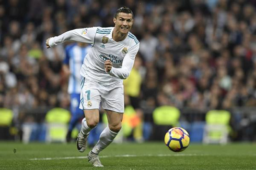
<path fill-rule="evenodd" d="M 115 28 L 121 32 L 122 34 L 127 34 L 133 24 L 132 14 L 126 14 L 124 12 L 120 12 L 117 18 L 114 18 Z"/>

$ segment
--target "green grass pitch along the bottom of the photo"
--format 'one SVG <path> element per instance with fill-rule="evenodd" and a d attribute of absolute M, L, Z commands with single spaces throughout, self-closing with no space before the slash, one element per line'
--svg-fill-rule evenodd
<path fill-rule="evenodd" d="M 16 153 L 15 153 L 16 150 Z M 191 144 L 174 153 L 164 142 L 112 143 L 100 153 L 104 167 L 92 167 L 76 144 L 0 142 L 0 169 L 255 169 L 256 143 Z M 45 158 L 50 158 L 46 160 Z M 35 160 L 38 159 L 38 160 Z"/>

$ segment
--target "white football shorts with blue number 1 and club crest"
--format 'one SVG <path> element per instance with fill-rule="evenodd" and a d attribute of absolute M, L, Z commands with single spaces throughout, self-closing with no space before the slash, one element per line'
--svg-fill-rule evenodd
<path fill-rule="evenodd" d="M 124 113 L 123 86 L 108 87 L 106 84 L 92 82 L 83 77 L 81 88 L 80 109 L 99 109 L 101 102 L 103 109 Z"/>

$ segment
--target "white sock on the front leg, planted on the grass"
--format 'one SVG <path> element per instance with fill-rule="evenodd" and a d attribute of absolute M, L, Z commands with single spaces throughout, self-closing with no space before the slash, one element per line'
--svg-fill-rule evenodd
<path fill-rule="evenodd" d="M 102 151 L 103 149 L 105 149 L 107 146 L 109 146 L 109 144 L 114 140 L 115 136 L 117 136 L 118 133 L 112 132 L 109 129 L 109 126 L 107 126 L 102 133 L 100 134 L 100 139 L 99 141 L 96 143 L 96 145 L 94 146 L 94 148 L 92 148 L 92 152 L 99 154 L 100 151 Z"/>

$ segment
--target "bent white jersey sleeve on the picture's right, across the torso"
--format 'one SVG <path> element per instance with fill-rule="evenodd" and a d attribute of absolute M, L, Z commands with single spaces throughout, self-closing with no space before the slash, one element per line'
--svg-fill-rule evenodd
<path fill-rule="evenodd" d="M 127 77 L 129 76 L 129 74 L 133 68 L 134 59 L 138 53 L 138 49 L 139 49 L 139 43 L 136 44 L 135 46 L 133 46 L 129 50 L 129 52 L 125 55 L 123 64 L 122 64 L 122 68 L 112 67 L 112 69 L 108 73 L 110 75 L 112 75 L 114 77 L 118 77 L 120 79 L 127 79 Z"/>

